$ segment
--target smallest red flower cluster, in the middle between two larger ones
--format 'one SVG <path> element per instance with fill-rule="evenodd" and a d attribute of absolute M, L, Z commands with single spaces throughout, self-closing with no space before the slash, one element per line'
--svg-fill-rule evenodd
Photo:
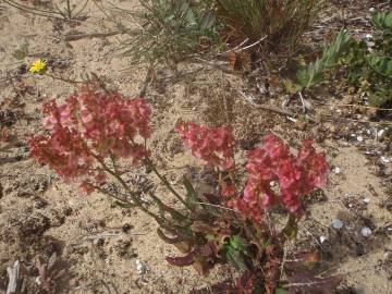
<path fill-rule="evenodd" d="M 206 127 L 193 122 L 181 122 L 175 130 L 195 157 L 224 170 L 234 168 L 235 139 L 230 127 Z"/>

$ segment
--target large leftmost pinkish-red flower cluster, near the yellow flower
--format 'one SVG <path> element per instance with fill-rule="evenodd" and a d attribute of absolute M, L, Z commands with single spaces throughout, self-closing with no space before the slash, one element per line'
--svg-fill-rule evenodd
<path fill-rule="evenodd" d="M 105 94 L 84 86 L 64 105 L 54 100 L 44 106 L 44 124 L 50 136 L 30 139 L 30 155 L 48 164 L 65 181 L 82 180 L 81 188 L 89 193 L 89 183 L 103 183 L 106 175 L 94 167 L 105 158 L 131 158 L 134 164 L 147 155 L 137 135 L 151 134 L 151 110 L 143 99 L 124 99 L 121 94 Z"/>

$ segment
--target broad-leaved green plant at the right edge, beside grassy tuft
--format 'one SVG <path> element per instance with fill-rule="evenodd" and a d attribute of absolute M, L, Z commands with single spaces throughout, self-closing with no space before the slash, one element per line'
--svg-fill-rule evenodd
<path fill-rule="evenodd" d="M 322 57 L 303 66 L 296 75 L 296 84 L 286 83 L 293 91 L 307 89 L 323 81 L 341 68 L 347 70 L 347 82 L 366 94 L 372 107 L 392 101 L 392 12 L 375 12 L 371 17 L 375 29 L 373 44 L 357 41 L 342 30 L 329 45 Z"/>

